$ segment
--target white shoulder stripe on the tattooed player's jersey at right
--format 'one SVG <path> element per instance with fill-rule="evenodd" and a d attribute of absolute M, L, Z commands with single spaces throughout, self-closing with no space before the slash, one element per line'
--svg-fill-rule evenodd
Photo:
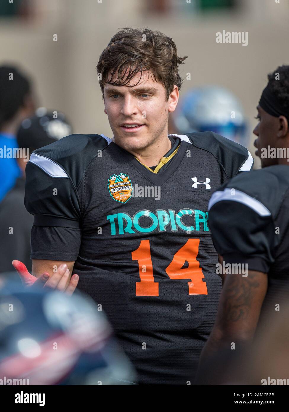
<path fill-rule="evenodd" d="M 232 194 L 234 193 L 234 194 Z M 240 190 L 234 190 L 226 188 L 223 191 L 214 192 L 209 200 L 208 210 L 217 202 L 222 200 L 233 200 L 235 202 L 242 203 L 249 208 L 253 209 L 260 216 L 270 216 L 271 213 L 266 206 L 263 205 L 259 200 L 254 199 L 254 197 L 249 196 L 248 194 L 241 192 Z M 237 218 L 237 217 L 236 217 Z"/>

